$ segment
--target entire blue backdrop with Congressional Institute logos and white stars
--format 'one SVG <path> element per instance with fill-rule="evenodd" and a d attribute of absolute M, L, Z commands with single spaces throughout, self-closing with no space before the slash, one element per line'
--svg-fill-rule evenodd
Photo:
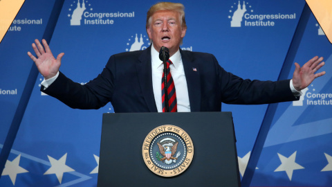
<path fill-rule="evenodd" d="M 296 53 L 288 51 L 305 1 L 180 2 L 187 21 L 181 48 L 212 53 L 226 71 L 242 78 L 277 80 L 289 65 L 291 78 L 295 66 L 285 61 L 289 53 L 300 65 L 315 55 L 325 57 L 326 75 L 308 87 L 303 100 L 277 105 L 267 138 L 259 140 L 265 141 L 264 148 L 253 154 L 259 161 L 250 186 L 331 186 L 332 45 L 313 15 Z M 0 44 L 0 148 L 33 66 L 26 52 L 33 51 L 35 38 L 42 39 L 54 3 L 26 0 Z M 84 0 L 84 9 L 82 0 L 64 1 L 50 41 L 53 55 L 65 53 L 60 70 L 84 84 L 102 71 L 112 54 L 149 46 L 146 12 L 154 3 Z M 42 94 L 42 80 L 38 75 L 0 186 L 96 186 L 102 114 L 113 112 L 113 107 L 71 109 Z M 267 108 L 222 106 L 234 118 L 241 177 L 259 128 L 266 125 Z"/>

